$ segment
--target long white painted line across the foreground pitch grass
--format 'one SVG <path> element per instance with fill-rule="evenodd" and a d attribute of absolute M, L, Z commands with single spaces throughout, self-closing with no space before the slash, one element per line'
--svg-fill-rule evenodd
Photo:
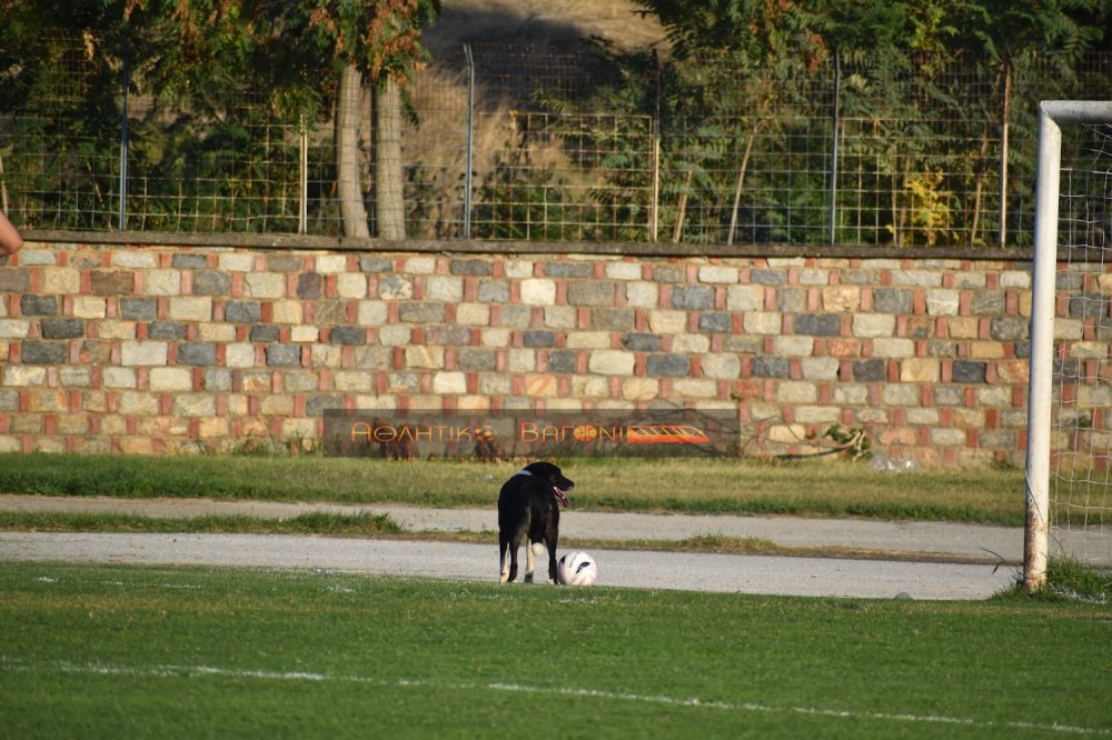
<path fill-rule="evenodd" d="M 706 701 L 698 698 L 682 699 L 666 694 L 624 693 L 600 689 L 575 689 L 566 687 L 539 687 L 522 683 L 473 683 L 466 681 L 435 681 L 428 679 L 380 679 L 367 676 L 332 676 L 308 671 L 270 671 L 219 668 L 216 666 L 119 666 L 111 663 L 72 663 L 69 661 L 47 661 L 31 663 L 20 659 L 0 656 L 0 671 L 10 672 L 61 672 L 83 676 L 128 676 L 140 678 L 175 678 L 203 677 L 234 679 L 258 679 L 262 681 L 311 681 L 367 683 L 387 688 L 421 689 L 456 689 L 460 691 L 509 691 L 518 693 L 555 694 L 562 697 L 583 697 L 587 699 L 605 699 L 607 701 L 631 701 L 646 704 L 668 707 L 693 707 L 729 712 L 775 712 L 783 714 L 813 714 L 820 717 L 843 719 L 866 719 L 877 721 L 894 721 L 922 724 L 954 724 L 969 728 L 1010 728 L 1035 730 L 1039 732 L 1062 732 L 1083 736 L 1112 736 L 1112 728 L 1078 727 L 1074 724 L 1041 724 L 1037 722 L 977 720 L 962 717 L 945 717 L 941 714 L 910 714 L 890 712 L 852 711 L 841 709 L 823 709 L 821 707 L 773 707 L 757 702 Z"/>

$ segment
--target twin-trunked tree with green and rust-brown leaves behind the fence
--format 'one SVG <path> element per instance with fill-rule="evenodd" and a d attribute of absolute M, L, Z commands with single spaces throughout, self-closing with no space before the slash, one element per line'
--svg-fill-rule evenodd
<path fill-rule="evenodd" d="M 378 120 L 378 232 L 403 239 L 399 86 L 425 58 L 420 29 L 436 12 L 435 1 L 126 0 L 123 16 L 143 29 L 148 43 L 162 49 L 153 56 L 151 70 L 166 89 L 208 86 L 212 80 L 227 86 L 228 72 L 222 70 L 245 64 L 285 77 L 287 84 L 315 88 L 320 76 L 312 60 L 327 60 L 338 76 L 336 173 L 344 233 L 349 237 L 369 234 L 358 140 L 367 114 L 361 104 L 366 79 L 376 93 Z"/>

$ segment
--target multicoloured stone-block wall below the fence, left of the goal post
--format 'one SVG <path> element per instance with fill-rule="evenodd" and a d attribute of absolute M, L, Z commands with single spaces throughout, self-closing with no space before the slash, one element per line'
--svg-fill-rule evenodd
<path fill-rule="evenodd" d="M 0 451 L 316 438 L 326 408 L 736 408 L 1022 464 L 1030 264 L 29 242 L 0 264 Z"/>

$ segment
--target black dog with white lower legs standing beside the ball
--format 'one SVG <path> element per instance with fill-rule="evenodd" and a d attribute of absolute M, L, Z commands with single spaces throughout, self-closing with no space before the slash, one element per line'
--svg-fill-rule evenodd
<path fill-rule="evenodd" d="M 525 541 L 525 581 L 533 580 L 533 546 L 548 548 L 548 582 L 556 583 L 556 540 L 559 507 L 567 506 L 565 491 L 575 488 L 550 462 L 530 462 L 502 487 L 498 494 L 498 557 L 502 582 L 517 578 L 517 549 Z"/>

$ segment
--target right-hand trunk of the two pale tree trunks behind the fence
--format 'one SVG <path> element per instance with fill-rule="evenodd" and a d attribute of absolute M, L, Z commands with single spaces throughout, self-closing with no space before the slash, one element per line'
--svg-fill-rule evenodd
<path fill-rule="evenodd" d="M 378 113 L 375 140 L 375 214 L 381 239 L 406 238 L 406 204 L 401 167 L 401 90 L 384 77 L 375 88 Z"/>

